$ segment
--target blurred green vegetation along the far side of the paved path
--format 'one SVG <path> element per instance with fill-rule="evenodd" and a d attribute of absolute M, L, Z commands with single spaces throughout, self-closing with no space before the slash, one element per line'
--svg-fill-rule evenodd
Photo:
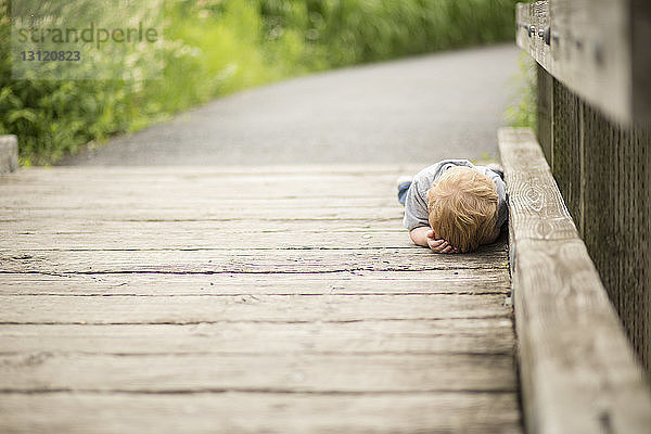
<path fill-rule="evenodd" d="M 514 33 L 515 0 L 164 4 L 162 79 L 12 80 L 10 1 L 0 0 L 0 135 L 18 136 L 23 165 L 55 163 L 87 143 L 102 143 L 240 89 L 345 65 L 512 40 Z"/>

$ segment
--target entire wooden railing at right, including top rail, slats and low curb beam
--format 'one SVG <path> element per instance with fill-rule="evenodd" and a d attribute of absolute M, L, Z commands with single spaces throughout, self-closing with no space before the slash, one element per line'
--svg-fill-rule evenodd
<path fill-rule="evenodd" d="M 500 131 L 526 426 L 648 433 L 651 2 L 516 13 L 538 69 L 537 138 Z"/>

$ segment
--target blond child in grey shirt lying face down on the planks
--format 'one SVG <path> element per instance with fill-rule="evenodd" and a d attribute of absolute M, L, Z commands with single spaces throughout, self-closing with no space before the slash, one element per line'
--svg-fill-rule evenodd
<path fill-rule="evenodd" d="M 508 218 L 503 175 L 468 159 L 444 159 L 398 179 L 405 228 L 436 253 L 467 253 L 497 240 Z"/>

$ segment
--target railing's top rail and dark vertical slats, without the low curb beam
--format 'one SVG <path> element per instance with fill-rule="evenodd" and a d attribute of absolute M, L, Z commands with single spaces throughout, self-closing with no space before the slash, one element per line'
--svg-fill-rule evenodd
<path fill-rule="evenodd" d="M 538 63 L 538 141 L 651 372 L 651 2 L 520 3 L 516 39 Z"/>

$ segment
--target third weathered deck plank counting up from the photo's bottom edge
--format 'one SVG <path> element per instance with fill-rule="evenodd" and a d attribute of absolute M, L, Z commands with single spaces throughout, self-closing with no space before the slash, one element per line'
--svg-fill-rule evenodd
<path fill-rule="evenodd" d="M 0 354 L 509 355 L 513 352 L 512 327 L 510 318 L 190 326 L 3 324 Z"/>

